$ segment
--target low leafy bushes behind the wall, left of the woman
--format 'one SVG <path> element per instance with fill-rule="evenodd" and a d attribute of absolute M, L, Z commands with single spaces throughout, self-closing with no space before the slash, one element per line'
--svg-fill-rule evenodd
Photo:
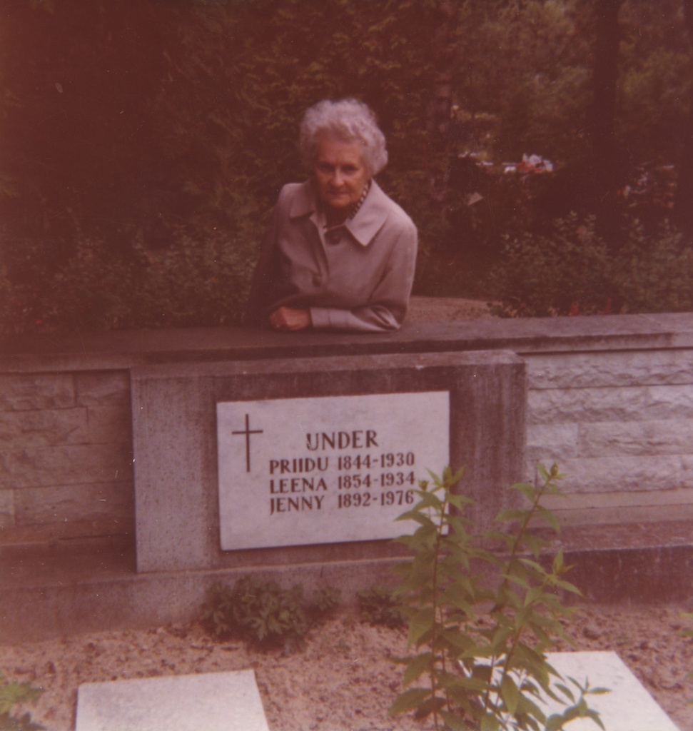
<path fill-rule="evenodd" d="M 37 273 L 41 286 L 14 284 L 0 269 L 6 332 L 229 325 L 243 311 L 253 247 L 213 232 L 195 240 L 175 231 L 170 245 L 128 255 L 102 239 L 80 239 L 65 264 Z"/>

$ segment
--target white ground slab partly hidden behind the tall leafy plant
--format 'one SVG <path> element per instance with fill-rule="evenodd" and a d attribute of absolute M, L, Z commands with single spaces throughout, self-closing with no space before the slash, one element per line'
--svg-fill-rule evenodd
<path fill-rule="evenodd" d="M 610 689 L 605 695 L 587 697 L 607 731 L 679 731 L 615 652 L 553 652 L 547 660 L 566 679 L 583 684 L 588 679 L 592 688 Z M 550 713 L 560 710 L 558 705 L 550 707 Z M 597 731 L 599 727 L 591 719 L 575 719 L 567 729 Z"/>

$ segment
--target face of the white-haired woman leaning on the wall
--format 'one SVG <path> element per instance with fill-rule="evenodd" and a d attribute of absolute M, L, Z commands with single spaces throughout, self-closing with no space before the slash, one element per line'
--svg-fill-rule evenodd
<path fill-rule="evenodd" d="M 315 179 L 318 197 L 328 211 L 346 213 L 361 197 L 369 178 L 359 143 L 339 142 L 330 137 L 319 140 Z"/>

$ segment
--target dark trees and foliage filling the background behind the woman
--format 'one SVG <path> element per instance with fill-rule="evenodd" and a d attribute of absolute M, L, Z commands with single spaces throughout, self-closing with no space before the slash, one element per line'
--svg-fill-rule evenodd
<path fill-rule="evenodd" d="M 3 327 L 58 327 L 66 308 L 75 327 L 231 322 L 280 186 L 305 175 L 300 115 L 325 97 L 357 96 L 379 116 L 391 161 L 379 181 L 419 227 L 422 292 L 467 294 L 460 288 L 478 286 L 505 234 L 545 231 L 570 211 L 599 213 L 606 200 L 615 228 L 640 216 L 642 197 L 626 199 L 625 183 L 650 185 L 667 165 L 681 164 L 677 205 L 690 211 L 684 4 L 6 4 Z M 550 159 L 555 172 L 504 176 L 501 164 L 523 154 Z M 659 221 L 667 205 L 645 213 Z M 203 250 L 236 272 L 235 299 L 224 299 L 221 279 L 208 281 L 216 260 L 203 265 Z M 176 301 L 188 288 L 194 297 Z M 146 317 L 121 302 L 135 290 Z M 210 306 L 195 319 L 205 300 L 224 313 Z"/>

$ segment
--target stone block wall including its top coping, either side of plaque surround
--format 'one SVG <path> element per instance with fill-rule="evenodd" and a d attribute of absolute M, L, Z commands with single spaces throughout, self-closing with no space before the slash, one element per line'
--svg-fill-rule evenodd
<path fill-rule="evenodd" d="M 693 316 L 416 324 L 394 336 L 113 333 L 0 342 L 0 545 L 132 534 L 130 368 L 349 352 L 511 349 L 526 477 L 557 461 L 581 525 L 693 518 Z"/>

